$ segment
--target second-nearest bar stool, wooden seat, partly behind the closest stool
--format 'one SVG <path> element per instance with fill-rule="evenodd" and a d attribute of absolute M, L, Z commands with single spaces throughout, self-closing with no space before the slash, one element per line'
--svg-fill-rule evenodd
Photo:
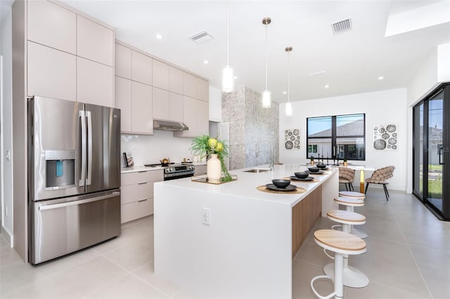
<path fill-rule="evenodd" d="M 363 225 L 366 223 L 366 217 L 364 215 L 342 211 L 342 210 L 330 210 L 326 212 L 328 219 L 342 224 L 342 232 L 349 233 L 350 225 Z M 339 232 L 339 231 L 336 231 Z M 356 236 L 355 236 L 356 237 Z M 359 237 L 358 237 L 359 238 Z M 326 252 L 325 252 L 326 253 Z M 326 253 L 328 255 L 328 253 Z M 330 255 L 328 255 L 332 258 Z M 333 263 L 323 266 L 323 272 L 333 279 Z M 368 277 L 366 274 L 349 266 L 349 256 L 344 255 L 344 270 L 343 270 L 343 284 L 351 288 L 363 288 L 368 285 Z"/>

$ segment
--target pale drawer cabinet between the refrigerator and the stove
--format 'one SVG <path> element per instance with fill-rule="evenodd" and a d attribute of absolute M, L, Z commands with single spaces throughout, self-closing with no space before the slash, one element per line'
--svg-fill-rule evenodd
<path fill-rule="evenodd" d="M 162 170 L 122 173 L 122 223 L 153 214 L 153 184 L 162 180 Z"/>

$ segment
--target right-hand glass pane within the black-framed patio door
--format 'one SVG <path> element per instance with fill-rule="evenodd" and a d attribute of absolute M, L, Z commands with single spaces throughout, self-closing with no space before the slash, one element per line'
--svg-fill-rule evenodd
<path fill-rule="evenodd" d="M 428 100 L 428 202 L 442 213 L 444 91 Z"/>

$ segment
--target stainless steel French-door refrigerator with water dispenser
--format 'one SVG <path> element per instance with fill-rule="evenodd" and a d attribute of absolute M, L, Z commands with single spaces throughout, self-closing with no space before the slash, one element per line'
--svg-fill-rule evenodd
<path fill-rule="evenodd" d="M 120 110 L 35 96 L 28 102 L 29 260 L 120 234 Z"/>

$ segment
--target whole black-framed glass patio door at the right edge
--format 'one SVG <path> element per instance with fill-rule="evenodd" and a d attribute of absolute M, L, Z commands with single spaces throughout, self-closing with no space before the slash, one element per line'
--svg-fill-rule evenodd
<path fill-rule="evenodd" d="M 413 194 L 442 220 L 450 220 L 449 115 L 450 84 L 413 107 Z"/>

